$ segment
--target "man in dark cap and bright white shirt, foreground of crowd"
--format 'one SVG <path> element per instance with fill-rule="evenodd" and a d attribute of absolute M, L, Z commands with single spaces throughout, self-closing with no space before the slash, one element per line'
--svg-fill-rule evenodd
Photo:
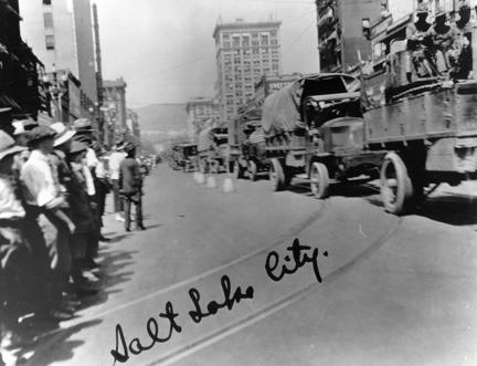
<path fill-rule="evenodd" d="M 50 159 L 54 136 L 54 129 L 46 126 L 32 129 L 31 154 L 22 167 L 20 179 L 26 205 L 38 212 L 39 224 L 50 252 L 50 268 L 53 276 L 50 300 L 54 306 L 51 315 L 67 318 L 71 315 L 60 312 L 60 307 L 71 273 L 68 240 L 75 231 L 75 224 L 64 212 L 65 196 L 60 189 L 60 182 L 55 179 Z"/>

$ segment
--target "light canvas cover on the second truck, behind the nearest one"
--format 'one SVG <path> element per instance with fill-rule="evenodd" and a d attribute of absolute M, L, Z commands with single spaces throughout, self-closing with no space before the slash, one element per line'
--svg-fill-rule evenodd
<path fill-rule="evenodd" d="M 311 95 L 356 92 L 358 79 L 347 74 L 315 74 L 303 77 L 265 98 L 262 127 L 265 137 L 305 128 L 303 101 Z"/>

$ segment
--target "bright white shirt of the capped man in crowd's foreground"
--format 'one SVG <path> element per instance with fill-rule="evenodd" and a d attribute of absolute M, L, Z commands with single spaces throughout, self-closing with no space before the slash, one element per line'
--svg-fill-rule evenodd
<path fill-rule="evenodd" d="M 55 208 L 64 202 L 53 178 L 49 157 L 40 150 L 33 150 L 20 174 L 25 199 L 29 205 Z"/>

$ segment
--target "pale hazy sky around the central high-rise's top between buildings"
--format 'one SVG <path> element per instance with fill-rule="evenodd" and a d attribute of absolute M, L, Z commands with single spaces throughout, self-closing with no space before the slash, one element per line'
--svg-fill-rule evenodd
<path fill-rule="evenodd" d="M 219 19 L 280 20 L 284 73 L 316 72 L 314 0 L 92 0 L 99 17 L 105 79 L 124 76 L 127 104 L 212 96 L 212 32 Z"/>

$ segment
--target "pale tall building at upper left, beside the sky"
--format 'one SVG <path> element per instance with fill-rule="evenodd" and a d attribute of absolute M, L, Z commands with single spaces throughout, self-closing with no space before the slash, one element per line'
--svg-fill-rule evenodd
<path fill-rule="evenodd" d="M 86 96 L 97 102 L 89 0 L 20 0 L 22 34 L 45 71 L 72 72 Z"/>

